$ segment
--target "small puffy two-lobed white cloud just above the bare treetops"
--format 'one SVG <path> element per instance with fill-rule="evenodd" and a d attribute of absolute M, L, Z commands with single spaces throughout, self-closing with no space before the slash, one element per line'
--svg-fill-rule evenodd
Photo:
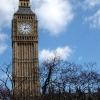
<path fill-rule="evenodd" d="M 61 59 L 65 60 L 70 57 L 72 50 L 68 46 L 58 47 L 56 50 L 43 49 L 39 53 L 39 58 L 43 61 L 55 57 L 55 54 L 60 56 Z"/>

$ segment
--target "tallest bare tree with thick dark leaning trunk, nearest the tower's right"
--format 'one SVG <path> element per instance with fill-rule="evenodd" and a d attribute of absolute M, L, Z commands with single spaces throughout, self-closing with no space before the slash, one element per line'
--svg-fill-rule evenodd
<path fill-rule="evenodd" d="M 50 86 L 51 82 L 55 79 L 55 74 L 59 63 L 59 57 L 54 57 L 53 59 L 44 61 L 42 63 L 42 67 L 40 68 L 40 78 L 42 81 L 43 94 L 46 94 L 47 89 L 49 89 L 48 86 Z"/>

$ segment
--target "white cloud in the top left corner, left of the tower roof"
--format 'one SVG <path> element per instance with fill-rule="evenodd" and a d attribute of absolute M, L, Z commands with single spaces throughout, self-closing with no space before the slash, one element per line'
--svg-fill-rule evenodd
<path fill-rule="evenodd" d="M 17 8 L 18 0 L 2 0 L 0 2 L 0 27 L 11 26 L 14 7 Z"/>

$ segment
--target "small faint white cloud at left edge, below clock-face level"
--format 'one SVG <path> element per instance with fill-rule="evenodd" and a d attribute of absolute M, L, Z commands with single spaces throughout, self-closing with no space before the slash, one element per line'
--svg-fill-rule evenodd
<path fill-rule="evenodd" d="M 4 53 L 4 51 L 7 49 L 6 40 L 8 39 L 8 36 L 6 34 L 0 34 L 0 54 Z"/>

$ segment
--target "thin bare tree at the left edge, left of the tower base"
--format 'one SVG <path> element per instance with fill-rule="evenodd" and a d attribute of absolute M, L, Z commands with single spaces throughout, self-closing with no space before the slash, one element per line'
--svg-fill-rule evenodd
<path fill-rule="evenodd" d="M 0 77 L 0 98 L 7 100 L 11 96 L 11 87 L 9 87 L 9 84 L 12 84 L 11 64 L 1 66 L 0 73 L 2 73 Z"/>

